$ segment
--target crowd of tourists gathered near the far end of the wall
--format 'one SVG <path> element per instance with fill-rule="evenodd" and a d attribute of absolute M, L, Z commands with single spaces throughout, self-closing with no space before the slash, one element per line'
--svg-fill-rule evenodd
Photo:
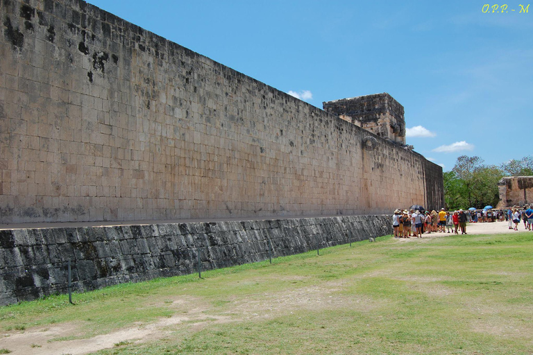
<path fill-rule="evenodd" d="M 419 209 L 396 209 L 392 216 L 394 238 L 422 238 L 423 234 L 430 233 L 466 233 L 466 223 L 487 223 L 496 220 L 508 220 L 509 229 L 518 230 L 518 224 L 523 220 L 526 230 L 533 230 L 533 205 L 524 206 L 523 209 L 484 209 L 463 211 L 420 211 Z M 514 226 L 513 226 L 514 224 Z"/>

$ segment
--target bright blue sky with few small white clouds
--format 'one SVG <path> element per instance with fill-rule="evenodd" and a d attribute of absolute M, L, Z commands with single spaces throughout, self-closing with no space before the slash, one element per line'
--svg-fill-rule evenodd
<path fill-rule="evenodd" d="M 316 107 L 388 92 L 405 107 L 407 144 L 444 171 L 459 155 L 533 154 L 524 1 L 504 12 L 470 0 L 89 2 Z"/>

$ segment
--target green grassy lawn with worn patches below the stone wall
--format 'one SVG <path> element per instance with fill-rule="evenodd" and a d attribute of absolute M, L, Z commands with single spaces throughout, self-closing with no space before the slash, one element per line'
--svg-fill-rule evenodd
<path fill-rule="evenodd" d="M 146 331 L 96 354 L 533 354 L 532 242 L 386 236 L 76 294 L 74 306 L 6 306 L 0 330 L 65 328 L 48 342 Z"/>

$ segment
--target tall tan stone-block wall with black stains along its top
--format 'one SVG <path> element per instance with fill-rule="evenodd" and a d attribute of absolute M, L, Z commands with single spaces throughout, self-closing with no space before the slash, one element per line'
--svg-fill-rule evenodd
<path fill-rule="evenodd" d="M 0 1 L 0 223 L 443 206 L 421 155 L 84 1 Z"/>

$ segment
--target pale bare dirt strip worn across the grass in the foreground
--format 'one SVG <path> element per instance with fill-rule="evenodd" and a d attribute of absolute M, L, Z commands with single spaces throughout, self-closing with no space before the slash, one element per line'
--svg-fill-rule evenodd
<path fill-rule="evenodd" d="M 60 339 L 81 336 L 81 323 L 55 324 L 53 327 L 35 327 L 26 331 L 6 331 L 2 334 L 3 338 L 0 338 L 0 349 L 9 349 L 13 355 L 81 355 L 110 349 L 119 343 L 142 343 L 162 339 L 179 330 L 200 331 L 208 324 L 271 319 L 301 309 L 332 309 L 353 304 L 353 308 L 369 311 L 369 300 L 341 296 L 336 293 L 339 286 L 341 285 L 335 282 L 328 282 L 320 286 L 296 288 L 285 293 L 236 298 L 228 301 L 223 312 L 217 314 L 214 314 L 208 305 L 198 306 L 198 300 L 180 297 L 171 300 L 169 304 L 176 308 L 177 313 L 157 322 L 135 324 L 134 327 L 109 334 L 73 340 Z M 183 309 L 187 309 L 187 312 L 183 313 Z"/>

